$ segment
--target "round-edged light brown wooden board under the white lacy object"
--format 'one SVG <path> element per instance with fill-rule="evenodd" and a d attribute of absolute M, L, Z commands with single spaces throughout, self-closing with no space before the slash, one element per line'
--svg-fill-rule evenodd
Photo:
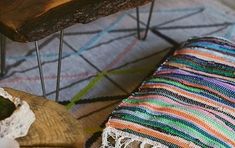
<path fill-rule="evenodd" d="M 84 128 L 61 105 L 25 92 L 4 88 L 29 103 L 36 115 L 26 137 L 17 141 L 24 147 L 83 147 Z"/>

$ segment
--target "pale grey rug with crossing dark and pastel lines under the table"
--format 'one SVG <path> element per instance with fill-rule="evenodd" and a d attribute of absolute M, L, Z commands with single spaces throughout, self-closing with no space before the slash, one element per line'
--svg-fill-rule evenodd
<path fill-rule="evenodd" d="M 149 5 L 141 8 L 145 27 Z M 105 121 L 156 68 L 169 49 L 193 36 L 235 40 L 235 12 L 214 0 L 157 1 L 145 42 L 136 39 L 135 10 L 65 30 L 60 101 L 84 125 L 86 147 L 98 147 Z M 55 97 L 58 34 L 40 41 L 47 97 Z M 7 40 L 7 74 L 0 86 L 41 95 L 33 43 Z"/>

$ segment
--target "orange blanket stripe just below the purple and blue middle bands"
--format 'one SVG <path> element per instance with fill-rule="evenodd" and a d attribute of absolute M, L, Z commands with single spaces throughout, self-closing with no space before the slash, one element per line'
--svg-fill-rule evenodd
<path fill-rule="evenodd" d="M 199 95 L 196 95 L 196 94 L 189 93 L 189 92 L 187 92 L 185 90 L 182 90 L 182 89 L 179 89 L 178 87 L 175 87 L 173 85 L 168 86 L 166 84 L 158 84 L 158 85 L 155 85 L 152 88 L 164 88 L 164 89 L 169 90 L 171 92 L 180 94 L 184 97 L 189 97 L 192 100 L 196 100 L 196 101 L 200 100 L 202 102 L 206 102 L 206 104 L 208 104 L 208 105 L 213 104 L 214 107 L 221 107 L 221 104 L 215 102 L 214 100 L 208 100 L 208 98 L 205 98 L 205 97 L 202 97 L 202 96 L 199 96 Z M 228 112 L 231 112 L 231 114 L 233 114 L 235 112 L 235 108 L 232 108 L 232 107 L 229 107 L 229 106 L 223 106 L 223 108 L 226 109 Z"/>

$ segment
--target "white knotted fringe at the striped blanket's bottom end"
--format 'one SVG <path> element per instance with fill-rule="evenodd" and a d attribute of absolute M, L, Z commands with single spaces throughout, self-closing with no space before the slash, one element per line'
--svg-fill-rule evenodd
<path fill-rule="evenodd" d="M 112 139 L 114 142 L 110 142 Z M 151 146 L 152 148 L 167 148 L 159 142 L 152 141 L 143 137 L 139 137 L 134 134 L 123 132 L 115 128 L 106 127 L 102 134 L 102 146 L 101 148 L 131 148 L 131 143 L 140 143 L 139 148 L 144 148 L 145 145 Z"/>

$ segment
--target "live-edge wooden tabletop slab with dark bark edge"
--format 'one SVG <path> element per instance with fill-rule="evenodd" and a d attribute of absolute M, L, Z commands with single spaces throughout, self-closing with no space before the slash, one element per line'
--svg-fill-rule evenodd
<path fill-rule="evenodd" d="M 75 23 L 144 5 L 151 0 L 1 0 L 0 33 L 18 42 L 42 39 Z"/>

